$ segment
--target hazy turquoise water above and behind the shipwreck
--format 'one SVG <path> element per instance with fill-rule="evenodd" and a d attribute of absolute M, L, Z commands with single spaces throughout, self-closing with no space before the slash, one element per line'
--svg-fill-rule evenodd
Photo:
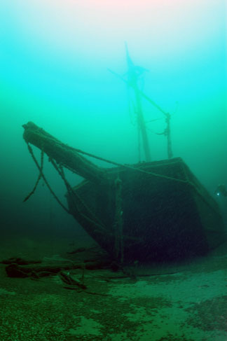
<path fill-rule="evenodd" d="M 0 37 L 4 233 L 79 229 L 42 181 L 22 202 L 39 176 L 22 138 L 28 121 L 101 158 L 138 162 L 128 88 L 109 71 L 127 74 L 125 43 L 135 65 L 145 69 L 142 90 L 172 117 L 174 157 L 183 158 L 213 197 L 219 183 L 227 186 L 225 0 L 1 0 Z M 142 108 L 151 158 L 166 159 L 159 134 L 165 117 L 145 100 Z M 66 204 L 48 158 L 44 172 Z M 67 176 L 71 185 L 81 181 Z M 224 215 L 227 200 L 217 199 Z"/>

